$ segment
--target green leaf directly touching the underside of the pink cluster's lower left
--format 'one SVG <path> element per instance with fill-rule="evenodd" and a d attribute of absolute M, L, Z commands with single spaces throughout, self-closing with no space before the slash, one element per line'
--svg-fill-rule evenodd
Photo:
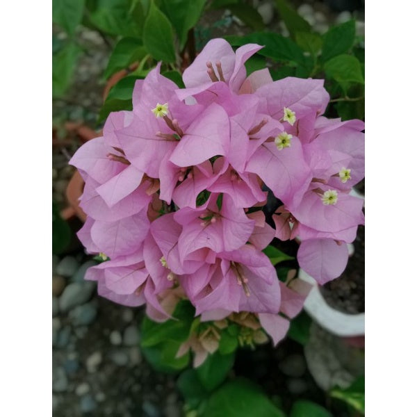
<path fill-rule="evenodd" d="M 142 339 L 143 347 L 150 347 L 158 343 L 165 343 L 167 340 L 183 342 L 190 334 L 191 323 L 194 319 L 195 309 L 193 305 L 181 300 L 173 313 L 174 318 L 162 323 L 154 322 L 145 317 L 142 321 Z"/>

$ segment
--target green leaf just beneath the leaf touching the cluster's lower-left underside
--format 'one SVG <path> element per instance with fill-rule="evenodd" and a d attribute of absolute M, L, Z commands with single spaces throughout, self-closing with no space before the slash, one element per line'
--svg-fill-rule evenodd
<path fill-rule="evenodd" d="M 141 350 L 147 361 L 158 372 L 176 373 L 186 368 L 190 361 L 190 353 L 177 358 L 177 352 L 181 342 L 165 341 L 152 347 L 141 346 Z"/>

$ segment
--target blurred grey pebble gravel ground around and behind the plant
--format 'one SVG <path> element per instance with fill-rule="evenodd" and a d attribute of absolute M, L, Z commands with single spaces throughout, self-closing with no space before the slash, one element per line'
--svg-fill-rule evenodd
<path fill-rule="evenodd" d="M 285 35 L 286 28 L 277 19 L 271 3 L 254 0 L 268 30 Z M 295 1 L 294 5 L 320 32 L 326 31 L 329 23 L 352 17 L 350 13 L 334 13 L 317 1 Z M 360 13 L 355 17 L 363 19 Z M 357 24 L 359 33 L 362 26 L 361 22 Z M 248 32 L 235 17 L 213 11 L 197 28 L 197 47 L 202 47 L 209 38 Z M 65 39 L 57 28 L 54 33 Z M 53 101 L 58 139 L 67 136 L 63 130 L 67 121 L 100 127 L 96 120 L 105 84 L 101 74 L 111 44 L 86 28 L 80 28 L 76 36 L 84 52 L 76 67 L 74 83 L 65 98 Z M 60 208 L 66 205 L 65 189 L 74 172 L 67 161 L 80 145 L 74 137 L 67 139 L 70 140 L 54 146 L 52 156 L 53 199 Z M 140 354 L 137 329 L 142 309 L 125 308 L 99 297 L 95 284 L 83 281 L 85 270 L 93 261 L 76 241 L 71 251 L 66 256 L 54 256 L 52 271 L 54 416 L 182 416 L 183 404 L 175 389 L 174 376 L 154 372 Z M 338 294 L 337 288 L 335 293 Z M 287 340 L 277 349 L 265 345 L 256 352 L 239 352 L 236 373 L 259 382 L 272 397 L 279 393 L 285 406 L 300 397 L 322 404 L 326 401 L 306 368 L 302 346 L 293 341 Z"/>

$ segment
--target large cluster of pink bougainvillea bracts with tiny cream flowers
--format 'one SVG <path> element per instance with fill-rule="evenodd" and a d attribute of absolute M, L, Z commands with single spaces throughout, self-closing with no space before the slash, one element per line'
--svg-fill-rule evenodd
<path fill-rule="evenodd" d="M 202 321 L 254 313 L 277 343 L 308 288 L 279 281 L 262 250 L 298 237 L 297 259 L 320 284 L 343 272 L 363 223 L 349 194 L 364 176 L 363 123 L 322 117 L 322 80 L 247 76 L 259 49 L 211 40 L 186 88 L 158 65 L 136 81 L 133 111 L 111 113 L 70 163 L 85 180 L 79 238 L 109 259 L 86 275 L 99 294 L 165 320 L 180 288 Z M 281 203 L 275 228 L 268 190 Z"/>

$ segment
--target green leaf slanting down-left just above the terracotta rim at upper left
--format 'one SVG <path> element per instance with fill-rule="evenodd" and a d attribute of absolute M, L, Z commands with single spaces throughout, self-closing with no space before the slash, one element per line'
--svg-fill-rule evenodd
<path fill-rule="evenodd" d="M 131 63 L 140 60 L 145 55 L 146 49 L 142 45 L 141 40 L 138 38 L 122 38 L 117 42 L 110 58 L 108 58 L 104 77 L 108 79 L 108 77 L 115 74 L 115 72 L 129 67 Z"/>

